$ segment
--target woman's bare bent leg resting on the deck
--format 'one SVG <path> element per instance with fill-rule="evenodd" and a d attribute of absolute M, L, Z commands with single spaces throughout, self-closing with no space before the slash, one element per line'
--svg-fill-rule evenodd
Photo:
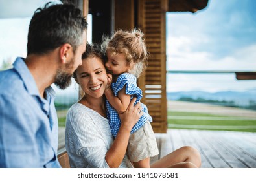
<path fill-rule="evenodd" d="M 168 168 L 168 167 L 200 167 L 201 156 L 193 147 L 181 147 L 172 153 L 167 154 L 154 164 L 152 168 Z"/>

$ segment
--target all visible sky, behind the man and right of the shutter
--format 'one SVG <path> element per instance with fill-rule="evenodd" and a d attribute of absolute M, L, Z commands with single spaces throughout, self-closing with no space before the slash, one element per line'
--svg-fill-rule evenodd
<path fill-rule="evenodd" d="M 0 66 L 3 59 L 27 55 L 30 18 L 47 2 L 26 1 L 0 0 Z M 255 0 L 209 0 L 195 14 L 168 12 L 167 70 L 256 71 L 255 8 Z M 167 92 L 248 89 L 256 90 L 256 80 L 238 81 L 235 74 L 167 74 Z"/>

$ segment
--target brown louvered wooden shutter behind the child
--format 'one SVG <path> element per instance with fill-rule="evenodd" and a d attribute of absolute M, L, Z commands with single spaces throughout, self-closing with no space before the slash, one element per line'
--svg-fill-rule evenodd
<path fill-rule="evenodd" d="M 145 33 L 150 57 L 139 87 L 143 87 L 142 100 L 153 118 L 155 133 L 167 132 L 166 96 L 166 12 L 168 0 L 143 0 L 139 3 L 139 27 Z"/>

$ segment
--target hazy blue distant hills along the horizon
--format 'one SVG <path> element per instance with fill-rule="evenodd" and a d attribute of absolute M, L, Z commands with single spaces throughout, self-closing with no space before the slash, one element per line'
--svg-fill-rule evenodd
<path fill-rule="evenodd" d="M 179 100 L 180 98 L 192 98 L 194 100 L 202 98 L 205 100 L 234 101 L 237 104 L 246 105 L 250 101 L 256 101 L 256 89 L 248 91 L 221 91 L 221 92 L 204 92 L 204 91 L 181 91 L 167 92 L 167 100 Z"/>

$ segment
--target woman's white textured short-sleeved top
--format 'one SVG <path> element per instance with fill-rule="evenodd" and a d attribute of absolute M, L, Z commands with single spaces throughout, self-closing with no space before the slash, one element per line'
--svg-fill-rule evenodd
<path fill-rule="evenodd" d="M 113 144 L 108 120 L 75 103 L 67 112 L 65 147 L 71 167 L 108 168 L 106 153 Z M 125 155 L 119 167 L 132 167 Z"/>

